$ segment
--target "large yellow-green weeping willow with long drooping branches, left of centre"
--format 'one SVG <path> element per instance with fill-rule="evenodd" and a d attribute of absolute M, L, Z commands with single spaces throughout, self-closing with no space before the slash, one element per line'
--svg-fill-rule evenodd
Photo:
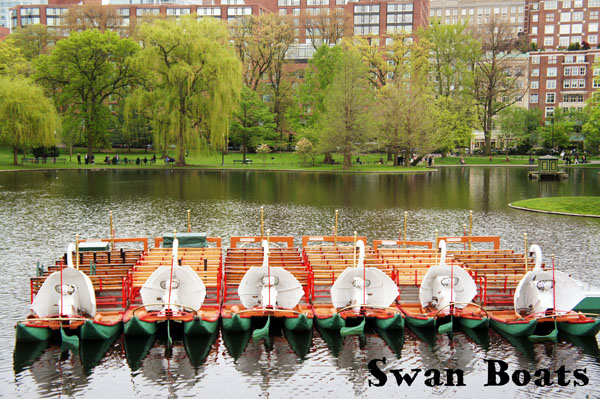
<path fill-rule="evenodd" d="M 186 150 L 225 148 L 241 68 L 223 23 L 195 15 L 156 20 L 140 25 L 137 38 L 146 84 L 129 98 L 125 119 L 144 112 L 155 147 L 175 144 L 177 166 L 185 165 Z"/>

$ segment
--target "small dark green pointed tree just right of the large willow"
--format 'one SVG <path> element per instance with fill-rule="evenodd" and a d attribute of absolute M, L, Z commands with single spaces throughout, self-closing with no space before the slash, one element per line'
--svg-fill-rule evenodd
<path fill-rule="evenodd" d="M 231 142 L 241 147 L 244 161 L 250 147 L 256 147 L 265 139 L 275 136 L 275 115 L 269 110 L 258 93 L 248 87 L 242 88 L 238 108 L 231 120 Z"/>

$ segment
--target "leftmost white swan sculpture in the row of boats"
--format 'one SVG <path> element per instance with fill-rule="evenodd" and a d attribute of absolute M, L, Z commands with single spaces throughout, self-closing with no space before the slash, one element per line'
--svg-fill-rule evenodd
<path fill-rule="evenodd" d="M 31 303 L 37 317 L 96 315 L 96 294 L 92 281 L 73 267 L 75 244 L 67 248 L 67 267 L 50 274 Z"/>

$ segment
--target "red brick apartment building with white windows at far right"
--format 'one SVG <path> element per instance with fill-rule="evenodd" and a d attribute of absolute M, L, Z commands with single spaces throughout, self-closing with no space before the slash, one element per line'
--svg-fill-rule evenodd
<path fill-rule="evenodd" d="M 526 7 L 525 32 L 539 49 L 529 53 L 529 107 L 544 120 L 557 108 L 582 109 L 600 88 L 600 0 L 527 0 Z"/>

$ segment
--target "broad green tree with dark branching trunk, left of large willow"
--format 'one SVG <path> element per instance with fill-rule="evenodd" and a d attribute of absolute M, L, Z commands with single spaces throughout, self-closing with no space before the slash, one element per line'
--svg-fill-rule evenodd
<path fill-rule="evenodd" d="M 137 81 L 131 56 L 139 46 L 114 32 L 72 32 L 50 55 L 36 59 L 35 78 L 53 93 L 57 106 L 78 120 L 87 138 L 87 153 L 108 143 L 113 123 L 108 102 L 120 98 Z"/>

